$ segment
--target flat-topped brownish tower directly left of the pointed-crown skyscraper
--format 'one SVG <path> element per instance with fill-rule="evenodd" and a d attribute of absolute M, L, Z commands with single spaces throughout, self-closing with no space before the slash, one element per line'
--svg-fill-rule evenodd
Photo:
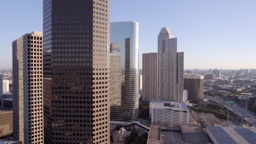
<path fill-rule="evenodd" d="M 142 100 L 158 99 L 158 53 L 142 54 Z"/>

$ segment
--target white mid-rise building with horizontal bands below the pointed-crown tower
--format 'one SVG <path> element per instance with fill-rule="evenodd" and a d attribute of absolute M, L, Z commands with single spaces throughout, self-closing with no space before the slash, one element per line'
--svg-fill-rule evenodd
<path fill-rule="evenodd" d="M 152 100 L 149 117 L 153 124 L 189 124 L 189 109 L 184 103 L 176 101 Z"/>

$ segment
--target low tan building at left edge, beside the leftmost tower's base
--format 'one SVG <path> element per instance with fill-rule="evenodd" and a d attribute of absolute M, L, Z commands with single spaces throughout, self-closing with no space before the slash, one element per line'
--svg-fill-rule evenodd
<path fill-rule="evenodd" d="M 13 110 L 0 109 L 0 137 L 13 133 Z"/>

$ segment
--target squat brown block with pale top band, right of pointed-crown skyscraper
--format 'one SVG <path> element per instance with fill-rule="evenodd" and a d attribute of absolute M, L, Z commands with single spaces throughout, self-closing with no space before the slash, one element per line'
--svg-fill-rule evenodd
<path fill-rule="evenodd" d="M 184 89 L 188 91 L 188 100 L 200 101 L 203 99 L 203 76 L 184 75 Z"/>

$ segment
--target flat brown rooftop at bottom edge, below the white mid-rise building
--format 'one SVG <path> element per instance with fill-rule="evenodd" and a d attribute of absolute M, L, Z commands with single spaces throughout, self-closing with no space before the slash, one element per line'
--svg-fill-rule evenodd
<path fill-rule="evenodd" d="M 147 144 L 206 144 L 210 143 L 203 129 L 197 125 L 151 124 Z"/>

